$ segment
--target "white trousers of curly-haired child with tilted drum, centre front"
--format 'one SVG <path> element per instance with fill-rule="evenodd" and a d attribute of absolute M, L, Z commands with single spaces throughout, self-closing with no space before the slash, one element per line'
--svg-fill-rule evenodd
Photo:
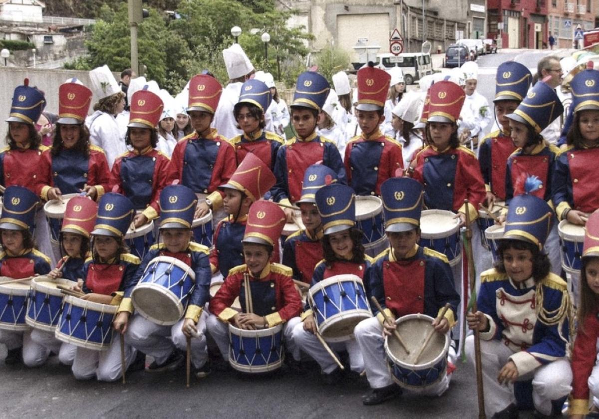
<path fill-rule="evenodd" d="M 325 347 L 323 347 L 316 336 L 314 336 L 312 332 L 304 330 L 303 322 L 299 322 L 295 325 L 293 339 L 299 350 L 310 355 L 318 365 L 320 365 L 322 372 L 331 374 L 331 372 L 335 371 L 337 363 L 335 363 L 331 355 L 329 355 L 328 351 L 326 351 Z M 364 360 L 362 359 L 362 353 L 360 352 L 356 339 L 350 339 L 345 342 L 335 342 L 328 345 L 335 353 L 343 350 L 347 351 L 347 354 L 349 354 L 349 365 L 352 371 L 364 371 Z"/>

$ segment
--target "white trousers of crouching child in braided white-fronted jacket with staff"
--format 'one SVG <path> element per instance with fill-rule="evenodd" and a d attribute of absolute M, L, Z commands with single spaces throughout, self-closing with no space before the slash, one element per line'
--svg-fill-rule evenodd
<path fill-rule="evenodd" d="M 466 355 L 474 365 L 474 335 L 466 338 Z M 483 366 L 485 388 L 485 411 L 488 417 L 516 402 L 513 384 L 499 384 L 497 377 L 514 352 L 503 341 L 480 341 L 480 360 Z M 518 377 L 518 381 L 533 379 L 534 408 L 544 415 L 551 414 L 551 401 L 570 393 L 572 371 L 570 362 L 561 358 L 540 366 L 530 374 Z"/>

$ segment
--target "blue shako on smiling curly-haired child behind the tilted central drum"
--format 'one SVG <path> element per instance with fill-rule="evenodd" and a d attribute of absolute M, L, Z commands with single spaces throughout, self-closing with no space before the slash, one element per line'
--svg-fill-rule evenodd
<path fill-rule="evenodd" d="M 356 202 L 352 187 L 333 183 L 316 191 L 316 208 L 325 234 L 337 233 L 355 226 Z"/>

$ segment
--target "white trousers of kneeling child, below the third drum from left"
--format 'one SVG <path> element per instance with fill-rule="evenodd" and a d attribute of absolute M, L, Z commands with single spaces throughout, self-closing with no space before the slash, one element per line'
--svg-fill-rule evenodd
<path fill-rule="evenodd" d="M 121 377 L 123 367 L 120 358 L 120 333 L 113 332 L 113 340 L 107 350 L 96 351 L 77 347 L 72 372 L 77 379 L 90 379 L 94 376 L 98 381 L 116 381 Z M 125 344 L 125 369 L 135 359 L 137 351 Z"/>

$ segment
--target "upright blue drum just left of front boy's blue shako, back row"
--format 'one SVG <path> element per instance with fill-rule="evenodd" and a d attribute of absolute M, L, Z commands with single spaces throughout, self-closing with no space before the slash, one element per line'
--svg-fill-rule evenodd
<path fill-rule="evenodd" d="M 389 246 L 383 223 L 383 201 L 377 196 L 356 196 L 356 227 L 364 233 L 365 253 L 375 257 Z"/>

